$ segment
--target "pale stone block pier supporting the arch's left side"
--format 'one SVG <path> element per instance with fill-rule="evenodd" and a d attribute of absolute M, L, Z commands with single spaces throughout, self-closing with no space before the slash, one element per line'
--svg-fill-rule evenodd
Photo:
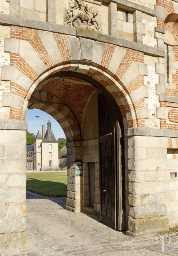
<path fill-rule="evenodd" d="M 8 125 L 14 127 L 12 121 Z M 16 123 L 26 129 L 27 125 Z M 21 127 L 20 127 L 21 125 Z M 0 129 L 0 246 L 26 246 L 26 131 Z M 15 128 L 15 127 L 14 127 Z"/>

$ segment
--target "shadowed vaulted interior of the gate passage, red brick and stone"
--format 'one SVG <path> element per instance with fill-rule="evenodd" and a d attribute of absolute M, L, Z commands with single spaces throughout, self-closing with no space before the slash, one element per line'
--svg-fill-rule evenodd
<path fill-rule="evenodd" d="M 108 182 L 112 183 L 112 189 L 106 191 L 106 196 L 103 196 L 104 202 L 100 197 L 100 177 L 102 176 L 101 170 L 103 168 L 99 168 L 99 166 L 105 165 L 109 155 L 108 152 L 107 155 L 105 154 L 106 156 L 103 158 L 105 162 L 102 163 L 99 150 L 101 134 L 98 120 L 98 95 L 100 94 L 104 95 L 106 108 L 109 108 L 109 105 L 112 107 L 110 111 L 113 111 L 112 125 L 114 125 L 118 121 L 115 114 L 119 107 L 113 96 L 99 83 L 92 82 L 92 79 L 87 79 L 83 74 L 73 75 L 73 72 L 56 73 L 42 81 L 34 90 L 28 108 L 41 109 L 54 117 L 62 127 L 66 140 L 69 142 L 67 143 L 68 198 L 66 200 L 66 209 L 80 212 L 87 211 L 87 207 L 91 206 L 94 214 L 104 215 L 103 222 L 116 230 L 121 230 L 123 227 L 118 227 L 117 223 L 122 223 L 118 207 L 118 205 L 122 205 L 122 202 L 118 198 L 121 198 L 122 201 L 123 197 L 122 195 L 118 197 L 118 194 L 122 193 L 122 186 L 120 186 L 121 183 L 117 178 L 117 174 L 122 170 L 118 169 L 120 164 L 115 162 L 120 161 L 117 157 L 117 141 L 120 141 L 120 139 L 117 138 L 116 127 L 115 131 L 112 130 L 112 132 L 114 131 L 113 139 L 109 142 L 114 147 L 112 161 L 115 163 L 113 162 L 113 170 L 111 171 L 110 167 L 108 167 L 108 171 L 105 171 L 104 177 L 102 177 L 104 181 L 108 180 Z M 121 115 L 120 118 L 122 118 Z M 83 161 L 82 177 L 77 177 L 78 175 L 76 175 L 76 159 L 78 161 L 82 159 Z M 91 163 L 93 163 L 93 174 L 90 173 Z M 108 177 L 105 177 L 106 174 Z M 94 175 L 94 177 L 91 178 L 91 175 Z M 92 187 L 91 194 L 90 186 Z M 111 193 L 114 199 L 108 201 Z M 102 204 L 107 206 L 105 210 L 103 210 Z M 110 218 L 109 211 L 114 212 L 112 218 Z M 107 219 L 110 220 L 111 224 Z"/>

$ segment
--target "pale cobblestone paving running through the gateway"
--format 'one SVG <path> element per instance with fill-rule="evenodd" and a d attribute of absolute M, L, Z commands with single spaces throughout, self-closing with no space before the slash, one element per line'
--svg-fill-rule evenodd
<path fill-rule="evenodd" d="M 178 255 L 177 232 L 172 234 L 174 248 L 168 247 L 169 251 L 162 253 L 162 237 L 126 236 L 97 217 L 64 210 L 65 200 L 27 192 L 28 248 L 13 256 Z"/>

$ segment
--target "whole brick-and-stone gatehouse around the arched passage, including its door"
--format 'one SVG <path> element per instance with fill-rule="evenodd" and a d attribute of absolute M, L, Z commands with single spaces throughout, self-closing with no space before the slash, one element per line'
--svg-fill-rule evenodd
<path fill-rule="evenodd" d="M 66 210 L 132 236 L 167 229 L 178 221 L 176 1 L 39 2 L 0 3 L 1 247 L 27 242 L 27 107 L 65 133 Z"/>

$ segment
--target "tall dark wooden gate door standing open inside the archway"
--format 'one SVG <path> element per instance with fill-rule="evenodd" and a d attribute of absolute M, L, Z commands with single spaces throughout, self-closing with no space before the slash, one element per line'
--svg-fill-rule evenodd
<path fill-rule="evenodd" d="M 117 229 L 116 215 L 116 151 L 115 119 L 102 94 L 98 95 L 99 116 L 99 169 L 101 221 Z"/>

